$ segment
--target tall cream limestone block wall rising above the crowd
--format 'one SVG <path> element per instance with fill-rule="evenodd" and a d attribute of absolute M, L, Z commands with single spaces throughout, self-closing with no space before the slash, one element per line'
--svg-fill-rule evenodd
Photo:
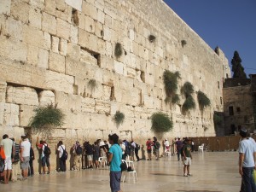
<path fill-rule="evenodd" d="M 20 136 L 35 108 L 55 103 L 66 114 L 56 140 L 117 132 L 144 141 L 154 136 L 150 116 L 158 111 L 174 122 L 166 137 L 215 135 L 213 111 L 223 111 L 228 61 L 162 1 L 3 0 L 0 26 L 1 133 Z M 179 105 L 166 105 L 166 69 L 181 73 L 178 92 L 189 81 L 207 94 L 211 107 L 201 113 L 196 102 L 183 114 L 182 95 Z M 125 113 L 119 128 L 113 123 L 117 110 Z"/>

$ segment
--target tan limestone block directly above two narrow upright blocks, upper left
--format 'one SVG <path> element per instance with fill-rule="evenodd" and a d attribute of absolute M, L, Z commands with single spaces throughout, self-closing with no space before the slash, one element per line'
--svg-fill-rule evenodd
<path fill-rule="evenodd" d="M 42 30 L 44 32 L 49 32 L 50 34 L 55 35 L 57 32 L 57 20 L 55 16 L 49 15 L 43 12 L 42 18 Z"/>

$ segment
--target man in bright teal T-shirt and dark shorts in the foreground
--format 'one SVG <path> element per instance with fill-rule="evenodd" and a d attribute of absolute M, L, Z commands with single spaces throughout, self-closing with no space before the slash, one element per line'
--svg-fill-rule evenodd
<path fill-rule="evenodd" d="M 108 141 L 111 144 L 111 148 L 107 151 L 108 162 L 110 162 L 110 188 L 111 192 L 121 192 L 121 160 L 122 160 L 122 149 L 119 147 L 119 137 L 116 134 L 109 135 Z"/>

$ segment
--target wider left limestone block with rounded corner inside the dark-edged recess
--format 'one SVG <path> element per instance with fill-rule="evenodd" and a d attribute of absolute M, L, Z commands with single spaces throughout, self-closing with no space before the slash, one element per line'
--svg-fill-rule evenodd
<path fill-rule="evenodd" d="M 7 87 L 6 102 L 38 106 L 38 93 L 30 87 Z"/>

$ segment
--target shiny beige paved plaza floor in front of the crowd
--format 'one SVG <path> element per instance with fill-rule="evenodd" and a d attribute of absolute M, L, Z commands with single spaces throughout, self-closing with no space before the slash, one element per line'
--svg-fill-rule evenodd
<path fill-rule="evenodd" d="M 183 177 L 183 164 L 177 157 L 135 162 L 137 183 L 122 183 L 124 192 L 236 192 L 240 189 L 236 152 L 194 154 L 192 177 Z M 36 175 L 26 181 L 0 184 L 0 192 L 108 192 L 108 170 Z M 129 181 L 128 181 L 129 182 Z"/>

